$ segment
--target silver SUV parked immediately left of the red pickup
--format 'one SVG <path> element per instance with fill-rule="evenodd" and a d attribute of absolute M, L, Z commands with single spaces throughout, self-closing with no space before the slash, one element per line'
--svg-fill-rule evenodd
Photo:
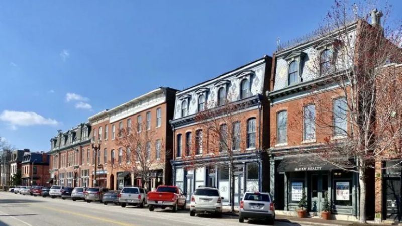
<path fill-rule="evenodd" d="M 140 208 L 144 208 L 147 202 L 147 193 L 144 188 L 139 187 L 124 187 L 119 196 L 119 202 L 121 207 L 126 205 L 139 205 Z"/>

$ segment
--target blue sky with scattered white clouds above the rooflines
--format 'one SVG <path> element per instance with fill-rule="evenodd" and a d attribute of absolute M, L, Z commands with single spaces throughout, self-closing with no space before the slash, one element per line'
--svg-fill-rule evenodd
<path fill-rule="evenodd" d="M 105 108 L 272 55 L 277 37 L 316 29 L 332 3 L 2 1 L 0 136 L 47 151 L 58 129 Z"/>

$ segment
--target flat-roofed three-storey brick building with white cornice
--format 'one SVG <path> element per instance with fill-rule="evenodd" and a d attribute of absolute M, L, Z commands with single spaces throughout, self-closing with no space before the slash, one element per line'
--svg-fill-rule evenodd
<path fill-rule="evenodd" d="M 176 91 L 161 87 L 89 117 L 92 140 L 100 143 L 96 178 L 94 173 L 90 174 L 93 180 L 115 190 L 130 185 L 154 190 L 159 184 L 171 183 L 172 130 L 169 120 L 173 118 Z M 139 177 L 140 164 L 132 158 L 137 150 L 129 150 L 117 143 L 124 139 L 121 133 L 123 130 L 130 131 L 133 139 L 145 133 L 153 134 L 149 143 L 141 144 L 143 148 L 147 146 L 152 153 L 152 159 L 145 160 L 153 163 L 153 168 L 149 171 L 152 175 L 147 175 L 149 181 L 143 181 Z M 126 146 L 132 144 L 126 143 Z M 160 147 L 165 150 L 162 152 L 165 156 L 153 155 L 160 151 Z"/>

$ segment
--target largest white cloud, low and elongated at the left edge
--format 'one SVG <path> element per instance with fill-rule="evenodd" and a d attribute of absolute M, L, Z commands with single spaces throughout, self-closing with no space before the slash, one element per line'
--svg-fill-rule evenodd
<path fill-rule="evenodd" d="M 10 124 L 10 128 L 17 129 L 17 126 L 34 126 L 34 125 L 58 125 L 59 122 L 54 119 L 45 118 L 32 111 L 13 111 L 4 110 L 0 114 L 0 120 Z"/>

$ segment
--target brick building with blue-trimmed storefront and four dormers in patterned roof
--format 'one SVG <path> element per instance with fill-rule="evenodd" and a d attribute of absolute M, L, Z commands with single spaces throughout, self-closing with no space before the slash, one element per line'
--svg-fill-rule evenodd
<path fill-rule="evenodd" d="M 173 181 L 188 203 L 200 185 L 216 186 L 223 204 L 234 206 L 245 191 L 269 190 L 263 176 L 269 175 L 269 161 L 262 151 L 268 144 L 262 136 L 269 131 L 263 94 L 270 69 L 271 57 L 264 56 L 176 94 Z"/>

